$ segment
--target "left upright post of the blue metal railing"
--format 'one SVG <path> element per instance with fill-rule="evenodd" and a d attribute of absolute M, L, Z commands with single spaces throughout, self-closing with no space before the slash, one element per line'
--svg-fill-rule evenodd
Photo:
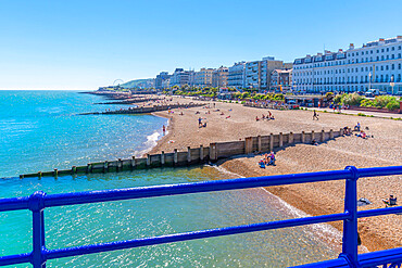
<path fill-rule="evenodd" d="M 37 191 L 29 196 L 29 210 L 33 212 L 33 253 L 30 263 L 34 268 L 46 267 L 45 247 L 45 199 L 46 193 Z"/>

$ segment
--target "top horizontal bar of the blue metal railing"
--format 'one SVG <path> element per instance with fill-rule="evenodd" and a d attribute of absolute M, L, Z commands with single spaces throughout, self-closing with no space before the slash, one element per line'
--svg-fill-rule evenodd
<path fill-rule="evenodd" d="M 360 177 L 398 175 L 402 174 L 402 166 L 361 168 L 357 169 L 357 171 Z M 350 170 L 342 169 L 319 173 L 290 174 L 290 175 L 203 181 L 193 183 L 114 189 L 104 191 L 49 194 L 45 196 L 45 207 L 77 205 L 141 197 L 178 195 L 211 191 L 238 190 L 256 187 L 272 187 L 280 184 L 341 180 L 352 178 L 352 176 L 353 175 Z M 8 199 L 3 203 L 2 200 L 0 200 L 0 212 L 26 209 L 27 199 L 28 197 Z"/>

